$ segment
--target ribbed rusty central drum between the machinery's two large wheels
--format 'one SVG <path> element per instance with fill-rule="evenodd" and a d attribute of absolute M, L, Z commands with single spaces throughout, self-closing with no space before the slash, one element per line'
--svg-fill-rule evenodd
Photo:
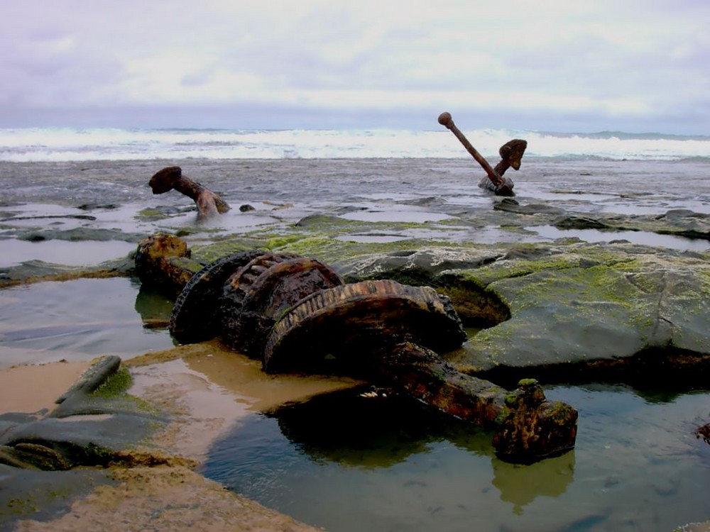
<path fill-rule="evenodd" d="M 343 284 L 331 267 L 288 253 L 256 257 L 224 284 L 222 340 L 246 355 L 261 358 L 275 321 L 301 299 Z"/>

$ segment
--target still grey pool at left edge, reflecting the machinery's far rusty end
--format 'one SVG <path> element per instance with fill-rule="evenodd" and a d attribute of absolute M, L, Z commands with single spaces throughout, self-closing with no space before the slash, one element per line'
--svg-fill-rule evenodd
<path fill-rule="evenodd" d="M 76 279 L 0 290 L 0 367 L 99 355 L 133 358 L 173 347 L 172 301 L 137 280 Z"/>

